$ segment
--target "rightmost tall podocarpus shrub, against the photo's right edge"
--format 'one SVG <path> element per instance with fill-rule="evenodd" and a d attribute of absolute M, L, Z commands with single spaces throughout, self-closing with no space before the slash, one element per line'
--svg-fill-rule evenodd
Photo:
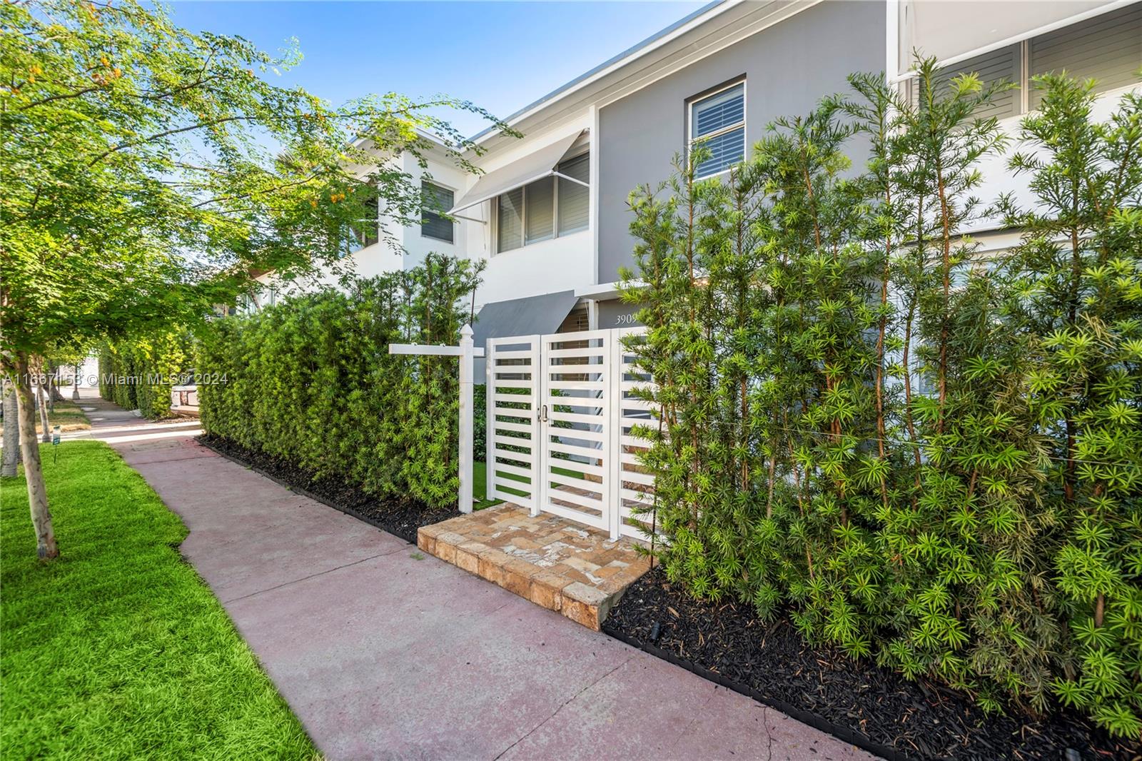
<path fill-rule="evenodd" d="M 1038 491 L 1057 522 L 1045 574 L 1071 638 L 1054 689 L 1119 734 L 1142 734 L 1142 96 L 1092 118 L 1089 82 L 1038 78 L 1039 112 L 1011 168 L 1035 206 L 1006 264 L 1030 337 L 1027 403 L 1045 441 Z"/>

